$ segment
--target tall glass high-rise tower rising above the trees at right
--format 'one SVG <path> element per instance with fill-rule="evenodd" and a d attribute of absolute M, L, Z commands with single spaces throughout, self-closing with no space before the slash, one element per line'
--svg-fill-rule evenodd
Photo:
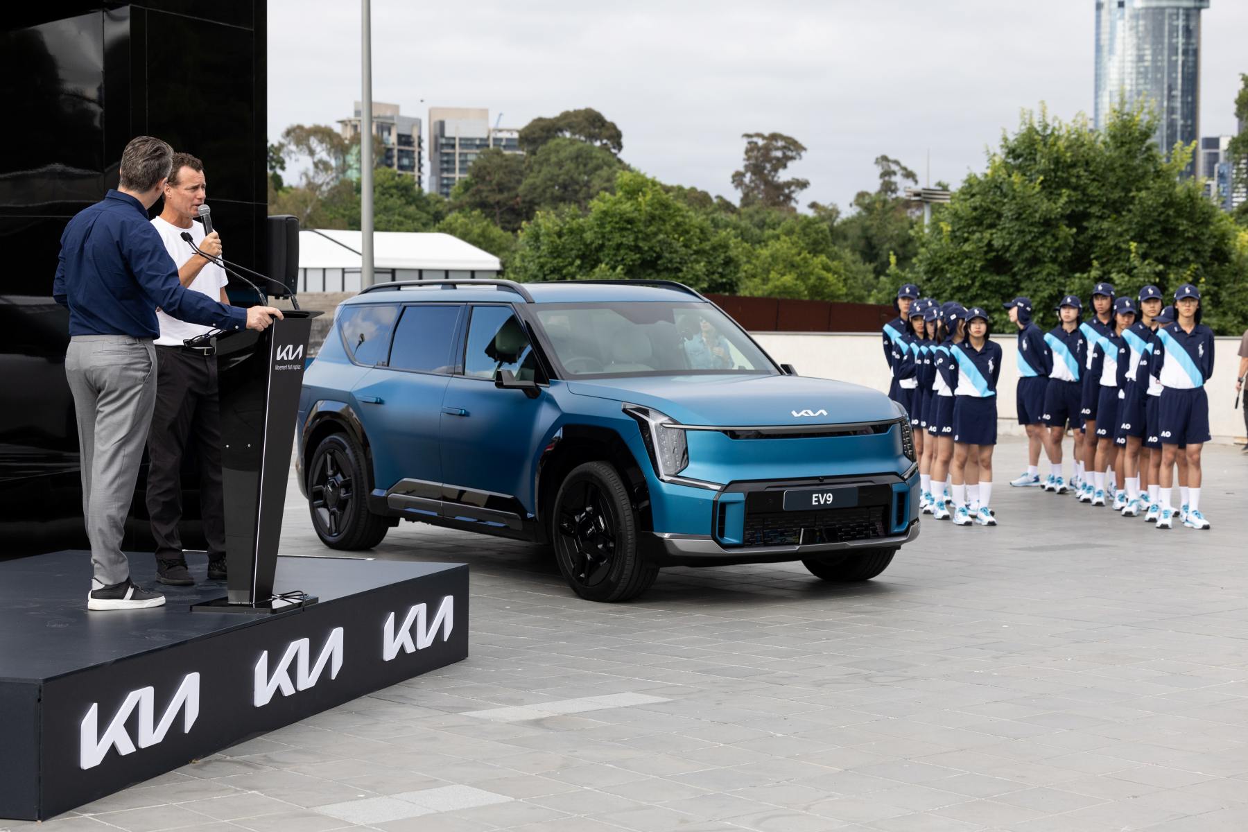
<path fill-rule="evenodd" d="M 1201 121 L 1201 11 L 1209 0 L 1096 0 L 1096 105 L 1104 127 L 1119 101 L 1158 115 L 1157 143 L 1191 143 Z"/>

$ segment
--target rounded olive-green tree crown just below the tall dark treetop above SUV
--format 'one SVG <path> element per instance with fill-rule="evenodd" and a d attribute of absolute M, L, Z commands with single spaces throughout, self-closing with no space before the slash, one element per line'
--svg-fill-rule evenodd
<path fill-rule="evenodd" d="M 585 211 L 590 200 L 615 186 L 622 167 L 602 147 L 575 138 L 552 138 L 524 160 L 520 203 L 535 210 L 570 205 Z"/>

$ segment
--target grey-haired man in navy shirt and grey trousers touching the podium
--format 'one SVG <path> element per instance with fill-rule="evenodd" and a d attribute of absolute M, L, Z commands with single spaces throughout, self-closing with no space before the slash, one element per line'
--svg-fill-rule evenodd
<path fill-rule="evenodd" d="M 91 539 L 90 610 L 160 606 L 136 586 L 121 553 L 156 400 L 156 309 L 222 331 L 262 331 L 282 313 L 241 309 L 190 292 L 147 210 L 160 198 L 173 150 L 140 136 L 121 155 L 121 185 L 80 211 L 61 235 L 52 297 L 70 311 L 65 375 L 77 414 L 82 515 Z"/>

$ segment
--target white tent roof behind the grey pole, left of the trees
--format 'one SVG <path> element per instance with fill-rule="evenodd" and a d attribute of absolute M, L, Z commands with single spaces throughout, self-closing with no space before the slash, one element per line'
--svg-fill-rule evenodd
<path fill-rule="evenodd" d="M 359 231 L 300 231 L 300 268 L 359 268 Z M 378 231 L 373 233 L 376 268 L 427 268 L 497 272 L 498 258 L 442 233 Z"/>

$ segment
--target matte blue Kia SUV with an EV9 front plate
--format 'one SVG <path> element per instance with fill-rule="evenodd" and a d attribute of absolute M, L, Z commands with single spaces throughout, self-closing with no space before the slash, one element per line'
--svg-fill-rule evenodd
<path fill-rule="evenodd" d="M 373 286 L 338 307 L 298 418 L 327 546 L 399 520 L 544 543 L 594 601 L 665 565 L 867 580 L 919 534 L 900 408 L 776 364 L 679 283 Z"/>

